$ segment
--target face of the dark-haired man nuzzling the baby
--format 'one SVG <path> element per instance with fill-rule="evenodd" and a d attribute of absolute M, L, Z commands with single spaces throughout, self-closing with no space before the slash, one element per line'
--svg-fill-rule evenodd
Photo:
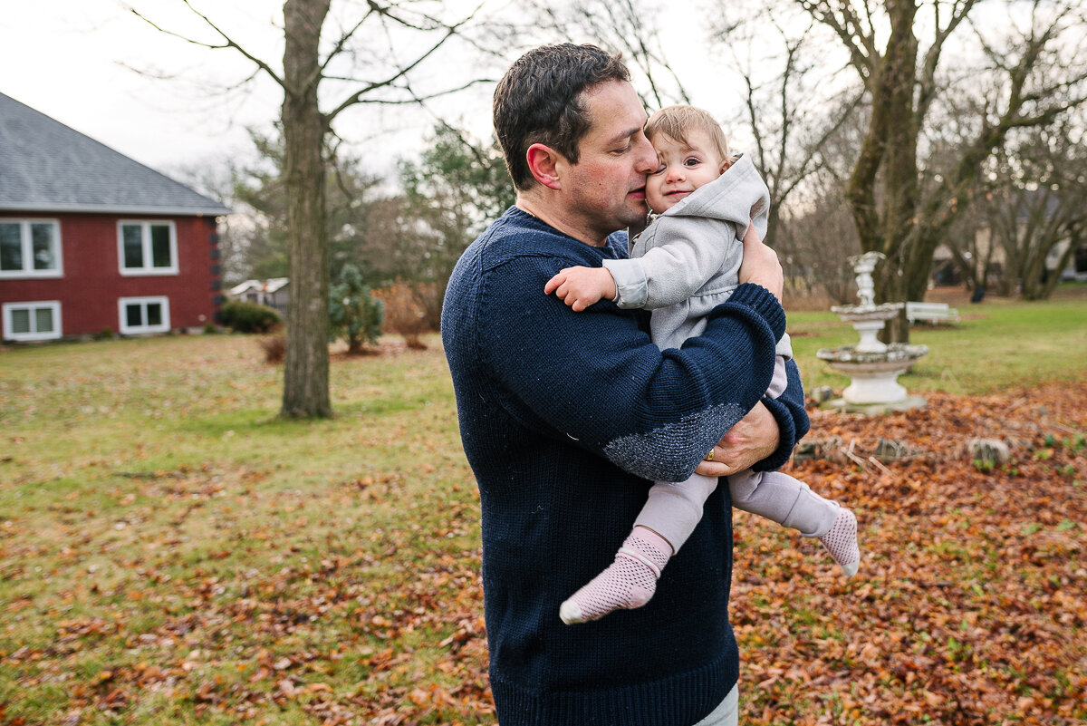
<path fill-rule="evenodd" d="M 646 218 L 646 175 L 657 152 L 641 130 L 646 111 L 634 87 L 622 80 L 584 92 L 592 125 L 578 143 L 576 164 L 563 160 L 562 199 L 575 227 L 595 241 Z"/>

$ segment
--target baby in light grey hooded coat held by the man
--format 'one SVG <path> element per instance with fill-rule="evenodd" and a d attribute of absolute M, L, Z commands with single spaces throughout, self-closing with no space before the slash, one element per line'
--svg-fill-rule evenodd
<path fill-rule="evenodd" d="M 750 159 L 729 154 L 721 126 L 701 109 L 662 109 L 646 123 L 646 136 L 660 159 L 646 182 L 646 200 L 658 216 L 632 240 L 630 259 L 566 267 L 548 280 L 545 293 L 577 312 L 601 299 L 652 310 L 650 333 L 664 350 L 699 335 L 705 315 L 739 285 L 742 239 L 751 234 L 749 224 L 760 238 L 765 235 L 770 192 Z M 787 386 L 788 334 L 775 352 L 769 398 Z M 614 562 L 562 603 L 563 622 L 594 621 L 649 602 L 661 569 L 698 525 L 716 486 L 716 478 L 699 474 L 655 483 Z M 734 474 L 728 489 L 737 509 L 819 538 L 847 576 L 857 573 L 857 518 L 848 509 L 780 472 Z"/>

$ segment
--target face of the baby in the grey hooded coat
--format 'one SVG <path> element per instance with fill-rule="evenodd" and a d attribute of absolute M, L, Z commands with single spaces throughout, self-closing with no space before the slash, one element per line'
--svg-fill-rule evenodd
<path fill-rule="evenodd" d="M 657 150 L 660 166 L 646 179 L 646 201 L 658 214 L 728 168 L 705 132 L 688 132 L 688 143 L 680 143 L 662 133 L 649 140 Z"/>

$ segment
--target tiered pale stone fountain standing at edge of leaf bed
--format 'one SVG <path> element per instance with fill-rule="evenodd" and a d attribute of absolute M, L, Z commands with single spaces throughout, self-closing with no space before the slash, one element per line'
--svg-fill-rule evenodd
<path fill-rule="evenodd" d="M 859 305 L 830 308 L 841 320 L 852 323 L 861 337 L 855 346 L 823 348 L 815 354 L 851 378 L 841 398 L 830 401 L 833 408 L 849 411 L 877 412 L 883 410 L 913 409 L 925 404 L 925 399 L 911 397 L 898 383 L 898 377 L 910 370 L 913 362 L 928 353 L 927 346 L 882 342 L 876 336 L 887 321 L 899 314 L 903 302 L 875 304 L 875 284 L 872 273 L 884 259 L 882 252 L 865 252 L 849 259 L 857 274 Z"/>

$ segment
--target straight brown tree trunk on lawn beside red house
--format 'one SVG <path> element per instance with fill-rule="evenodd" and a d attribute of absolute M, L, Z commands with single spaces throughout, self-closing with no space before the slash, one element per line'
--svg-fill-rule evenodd
<path fill-rule="evenodd" d="M 330 416 L 325 118 L 317 104 L 318 45 L 329 0 L 284 5 L 283 136 L 290 297 L 282 416 Z"/>

